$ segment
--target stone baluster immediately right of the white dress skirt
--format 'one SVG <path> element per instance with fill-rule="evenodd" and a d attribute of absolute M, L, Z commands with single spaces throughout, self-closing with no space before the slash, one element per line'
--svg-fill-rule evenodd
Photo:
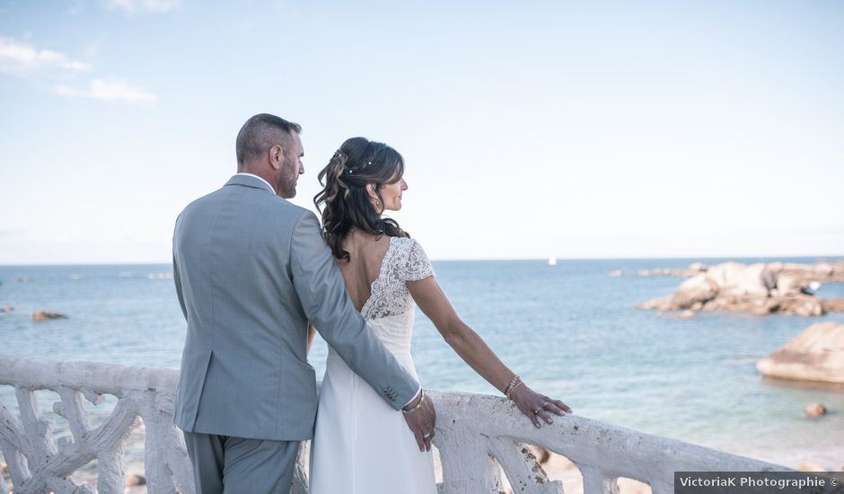
<path fill-rule="evenodd" d="M 463 434 L 455 428 L 437 428 L 434 443 L 443 463 L 444 494 L 497 494 L 504 490 L 488 437 Z"/>

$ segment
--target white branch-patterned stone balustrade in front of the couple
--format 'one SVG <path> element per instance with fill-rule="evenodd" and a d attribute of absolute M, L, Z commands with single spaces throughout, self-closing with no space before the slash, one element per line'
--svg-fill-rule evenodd
<path fill-rule="evenodd" d="M 148 491 L 194 493 L 184 440 L 172 424 L 176 382 L 177 372 L 170 369 L 0 357 L 0 384 L 14 386 L 20 410 L 15 415 L 0 403 L 0 451 L 14 492 L 92 493 L 92 486 L 77 485 L 68 478 L 92 460 L 98 462 L 96 490 L 123 492 L 124 450 L 140 418 L 146 429 Z M 67 420 L 69 434 L 53 437 L 54 424 L 38 405 L 39 390 L 58 394 L 60 401 L 53 410 Z M 101 425 L 92 428 L 84 401 L 97 404 L 107 394 L 117 397 L 117 404 Z M 671 494 L 675 471 L 786 470 L 574 415 L 536 429 L 503 398 L 429 395 L 437 411 L 434 443 L 443 466 L 440 490 L 444 494 L 504 492 L 502 471 L 517 493 L 561 494 L 562 484 L 549 481 L 526 445 L 539 445 L 575 463 L 583 474 L 585 494 L 617 493 L 619 477 L 646 482 L 654 494 Z M 303 467 L 304 448 L 292 494 L 307 494 Z M 7 494 L 3 481 L 0 494 Z"/>

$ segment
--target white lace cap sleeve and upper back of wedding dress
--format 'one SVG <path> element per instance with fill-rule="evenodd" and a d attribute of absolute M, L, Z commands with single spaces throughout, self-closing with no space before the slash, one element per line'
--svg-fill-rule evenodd
<path fill-rule="evenodd" d="M 365 319 L 379 319 L 406 313 L 416 307 L 408 291 L 408 281 L 434 276 L 422 246 L 413 239 L 391 237 L 384 254 L 381 272 L 372 285 L 372 293 L 361 309 Z"/>

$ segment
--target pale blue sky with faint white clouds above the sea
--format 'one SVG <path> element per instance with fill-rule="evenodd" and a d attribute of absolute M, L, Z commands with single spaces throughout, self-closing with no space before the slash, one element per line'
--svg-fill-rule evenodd
<path fill-rule="evenodd" d="M 844 3 L 0 0 L 0 265 L 168 262 L 260 112 L 448 259 L 844 254 Z"/>

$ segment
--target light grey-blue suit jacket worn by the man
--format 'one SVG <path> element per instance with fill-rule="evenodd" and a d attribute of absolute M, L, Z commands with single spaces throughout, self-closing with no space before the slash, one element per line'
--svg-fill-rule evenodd
<path fill-rule="evenodd" d="M 394 409 L 418 391 L 355 310 L 316 216 L 259 179 L 235 175 L 182 211 L 173 279 L 188 322 L 175 409 L 182 430 L 311 438 L 308 320 Z"/>

